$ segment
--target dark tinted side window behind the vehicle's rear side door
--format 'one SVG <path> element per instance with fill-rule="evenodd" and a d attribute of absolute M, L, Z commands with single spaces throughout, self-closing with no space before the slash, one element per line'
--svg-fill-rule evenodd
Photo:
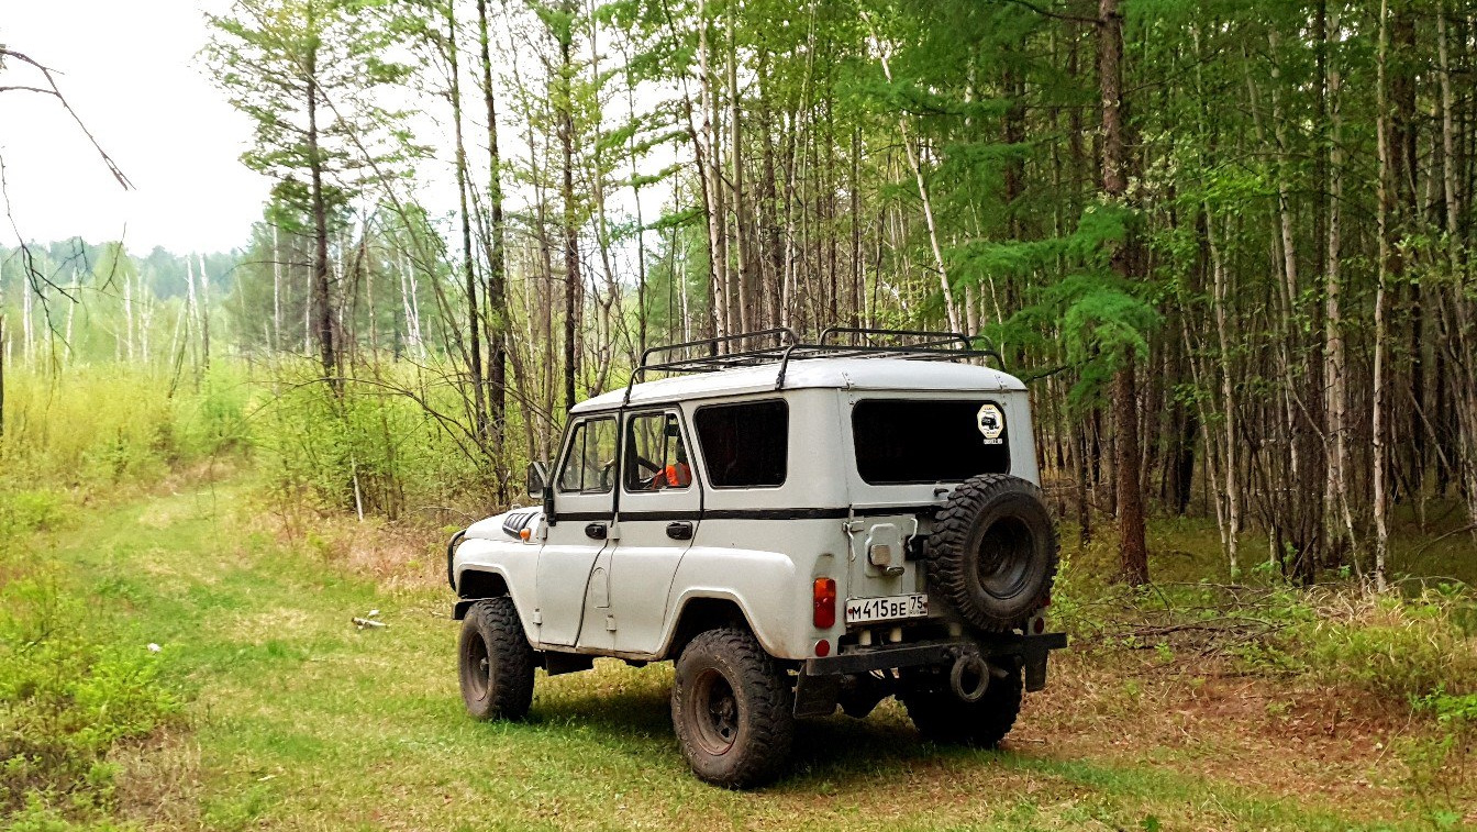
<path fill-rule="evenodd" d="M 784 485 L 790 408 L 781 400 L 709 405 L 694 417 L 697 443 L 713 488 Z"/>

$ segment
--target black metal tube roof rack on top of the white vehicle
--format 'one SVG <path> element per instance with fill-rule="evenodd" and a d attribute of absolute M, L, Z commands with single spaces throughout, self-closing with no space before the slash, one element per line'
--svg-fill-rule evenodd
<path fill-rule="evenodd" d="M 911 343 L 898 343 L 902 340 Z M 731 352 L 719 352 L 719 347 L 727 347 Z M 691 355 L 694 350 L 703 350 L 703 355 Z M 784 374 L 790 362 L 811 358 L 905 358 L 914 361 L 988 358 L 998 366 L 1004 365 L 998 352 L 975 347 L 969 335 L 962 333 L 827 327 L 815 343 L 805 343 L 795 334 L 795 330 L 774 327 L 648 347 L 641 353 L 641 364 L 631 371 L 622 406 L 631 403 L 631 389 L 635 387 L 637 380 L 650 372 L 716 372 L 738 366 L 777 364 L 780 369 L 774 380 L 774 389 L 783 390 Z"/>

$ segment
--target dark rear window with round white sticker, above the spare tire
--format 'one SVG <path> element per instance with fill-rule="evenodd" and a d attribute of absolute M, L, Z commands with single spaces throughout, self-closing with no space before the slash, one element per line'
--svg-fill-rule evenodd
<path fill-rule="evenodd" d="M 851 411 L 868 485 L 962 482 L 1010 470 L 1004 408 L 985 399 L 866 399 Z"/>

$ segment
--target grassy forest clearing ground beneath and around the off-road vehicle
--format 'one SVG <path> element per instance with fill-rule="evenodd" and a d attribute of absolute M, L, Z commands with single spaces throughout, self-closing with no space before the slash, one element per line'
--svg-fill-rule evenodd
<path fill-rule="evenodd" d="M 998 752 L 923 743 L 901 709 L 803 723 L 793 774 L 688 776 L 671 669 L 539 675 L 532 718 L 479 724 L 455 681 L 440 541 L 284 535 L 233 480 L 87 513 L 44 548 L 89 628 L 158 644 L 183 711 L 111 752 L 143 829 L 1431 829 L 1471 804 L 1412 786 L 1424 729 L 1165 650 L 1060 655 Z M 378 609 L 383 630 L 352 616 Z M 1442 808 L 1437 811 L 1436 807 Z M 1458 810 L 1452 811 L 1452 805 Z"/>

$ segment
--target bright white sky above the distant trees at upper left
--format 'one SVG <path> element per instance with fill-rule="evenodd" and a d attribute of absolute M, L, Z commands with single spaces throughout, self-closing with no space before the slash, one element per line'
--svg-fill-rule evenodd
<path fill-rule="evenodd" d="M 222 3 L 205 0 L 207 7 Z M 32 241 L 124 239 L 137 254 L 247 244 L 269 183 L 238 157 L 245 115 L 205 80 L 201 0 L 0 0 L 0 43 L 59 71 L 62 93 L 136 191 L 108 173 L 50 96 L 0 93 L 10 208 Z M 44 86 L 19 62 L 0 86 Z M 0 220 L 0 242 L 15 232 Z"/>

